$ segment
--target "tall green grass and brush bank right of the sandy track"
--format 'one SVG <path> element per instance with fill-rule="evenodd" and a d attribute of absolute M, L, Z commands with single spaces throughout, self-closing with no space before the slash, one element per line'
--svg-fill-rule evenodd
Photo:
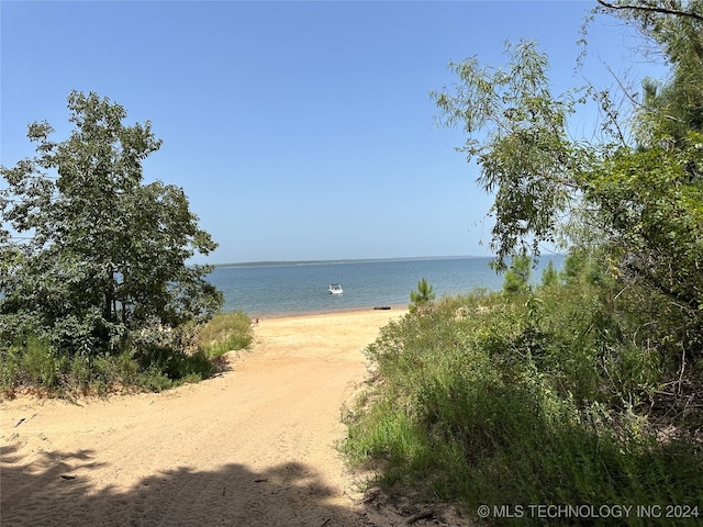
<path fill-rule="evenodd" d="M 367 348 L 375 377 L 349 413 L 349 459 L 389 489 L 411 484 L 469 513 L 703 506 L 701 445 L 685 434 L 657 439 L 647 403 L 666 371 L 612 299 L 588 283 L 477 292 L 391 323 Z M 670 525 L 635 516 L 621 519 Z M 529 522 L 544 519 L 520 519 Z M 601 520 L 567 523 L 579 522 Z"/>

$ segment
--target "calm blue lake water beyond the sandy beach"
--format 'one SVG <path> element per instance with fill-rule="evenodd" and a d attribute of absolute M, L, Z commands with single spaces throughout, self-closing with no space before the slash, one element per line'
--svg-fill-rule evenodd
<path fill-rule="evenodd" d="M 553 257 L 560 268 L 561 257 Z M 410 292 L 426 278 L 437 299 L 477 288 L 499 290 L 503 277 L 490 258 L 399 259 L 217 267 L 208 279 L 224 293 L 223 311 L 249 316 L 332 313 L 375 306 L 406 306 Z M 533 271 L 536 280 L 548 259 Z M 344 294 L 327 293 L 341 283 Z"/>

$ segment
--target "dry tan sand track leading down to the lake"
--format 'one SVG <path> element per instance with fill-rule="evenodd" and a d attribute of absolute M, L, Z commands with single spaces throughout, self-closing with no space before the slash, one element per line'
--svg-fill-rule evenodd
<path fill-rule="evenodd" d="M 228 371 L 165 393 L 3 401 L 0 523 L 457 525 L 360 494 L 335 448 L 361 351 L 401 314 L 261 319 L 252 350 L 225 356 Z"/>

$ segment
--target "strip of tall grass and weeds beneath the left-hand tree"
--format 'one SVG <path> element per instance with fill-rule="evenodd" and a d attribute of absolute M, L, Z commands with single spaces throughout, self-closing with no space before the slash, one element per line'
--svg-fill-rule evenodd
<path fill-rule="evenodd" d="M 138 335 L 119 352 L 57 352 L 30 335 L 0 349 L 0 391 L 34 391 L 49 395 L 161 391 L 212 377 L 213 359 L 247 348 L 252 321 L 243 313 L 222 313 L 199 327 Z"/>

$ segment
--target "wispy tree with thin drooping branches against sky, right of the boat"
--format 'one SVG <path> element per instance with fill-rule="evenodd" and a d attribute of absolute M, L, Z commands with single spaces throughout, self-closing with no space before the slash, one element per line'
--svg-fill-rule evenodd
<path fill-rule="evenodd" d="M 554 97 L 548 59 L 534 42 L 506 44 L 505 69 L 481 67 L 476 57 L 450 63 L 461 81 L 454 93 L 433 92 L 447 126 L 464 125 L 458 148 L 481 166 L 479 184 L 495 199 L 491 249 L 496 266 L 560 236 L 559 217 L 573 200 L 574 170 L 585 153 L 568 138 L 568 116 L 581 90 Z"/>

